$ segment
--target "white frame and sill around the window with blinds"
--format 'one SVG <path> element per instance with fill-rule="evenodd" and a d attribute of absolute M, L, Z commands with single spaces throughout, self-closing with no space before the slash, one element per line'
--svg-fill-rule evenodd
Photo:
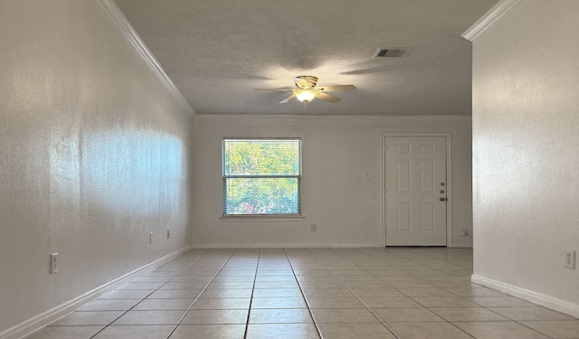
<path fill-rule="evenodd" d="M 298 168 L 299 173 L 294 175 L 226 175 L 225 174 L 225 144 L 227 141 L 246 140 L 246 141 L 298 141 Z M 223 178 L 223 206 L 222 206 L 222 221 L 294 221 L 303 220 L 302 216 L 302 192 L 301 192 L 301 177 L 302 177 L 302 139 L 301 137 L 223 137 L 222 139 L 222 178 Z M 227 180 L 235 178 L 264 178 L 264 179 L 297 179 L 298 182 L 298 212 L 297 213 L 255 213 L 255 214 L 226 214 L 225 213 L 225 197 L 227 192 Z"/>

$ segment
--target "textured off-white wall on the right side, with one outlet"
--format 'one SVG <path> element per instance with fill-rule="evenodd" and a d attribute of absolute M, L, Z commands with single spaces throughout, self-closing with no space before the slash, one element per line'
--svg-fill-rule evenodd
<path fill-rule="evenodd" d="M 522 1 L 474 42 L 474 274 L 579 316 L 579 3 Z"/>

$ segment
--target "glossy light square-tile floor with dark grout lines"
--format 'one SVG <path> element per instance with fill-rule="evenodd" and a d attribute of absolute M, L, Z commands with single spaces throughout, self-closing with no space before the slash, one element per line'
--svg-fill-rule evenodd
<path fill-rule="evenodd" d="M 470 283 L 472 250 L 191 250 L 26 339 L 579 338 Z"/>

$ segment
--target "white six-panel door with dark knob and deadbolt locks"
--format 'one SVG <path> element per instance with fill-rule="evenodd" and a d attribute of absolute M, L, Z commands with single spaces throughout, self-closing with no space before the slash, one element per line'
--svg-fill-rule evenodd
<path fill-rule="evenodd" d="M 384 137 L 386 246 L 446 246 L 445 137 Z"/>

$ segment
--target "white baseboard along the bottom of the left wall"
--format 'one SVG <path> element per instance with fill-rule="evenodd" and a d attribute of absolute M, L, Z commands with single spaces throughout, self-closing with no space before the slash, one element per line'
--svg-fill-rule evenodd
<path fill-rule="evenodd" d="M 0 339 L 19 339 L 24 337 L 24 335 L 28 335 L 41 329 L 44 325 L 48 325 L 52 323 L 52 321 L 60 318 L 62 315 L 67 315 L 74 311 L 75 309 L 81 307 L 82 305 L 90 302 L 97 297 L 115 289 L 115 287 L 119 287 L 119 285 L 126 283 L 131 278 L 138 277 L 139 275 L 147 272 L 147 270 L 151 270 L 153 268 L 157 268 L 166 262 L 170 261 L 171 259 L 175 259 L 176 257 L 180 256 L 181 254 L 185 253 L 186 251 L 191 250 L 191 247 L 185 247 L 181 250 L 176 250 L 173 253 L 167 254 L 165 257 L 157 259 L 147 265 L 137 268 L 131 272 L 128 272 L 124 276 L 116 278 L 108 283 L 101 285 L 100 287 L 96 287 L 89 292 L 75 297 L 65 303 L 62 303 L 59 306 L 52 307 L 48 311 L 41 313 L 40 315 L 35 315 L 30 319 L 25 320 L 24 322 L 15 325 L 7 330 L 0 332 Z"/>

